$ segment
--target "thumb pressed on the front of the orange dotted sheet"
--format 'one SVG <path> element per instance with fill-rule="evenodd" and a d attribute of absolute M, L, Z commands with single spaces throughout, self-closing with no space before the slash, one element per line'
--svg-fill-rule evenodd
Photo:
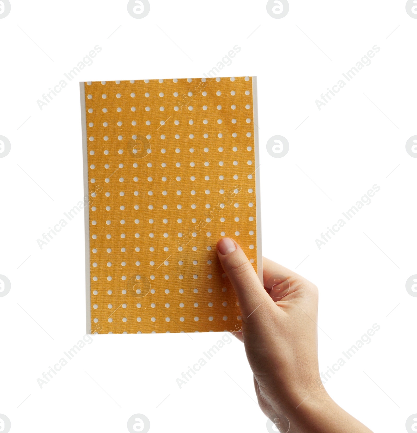
<path fill-rule="evenodd" d="M 262 304 L 265 307 L 271 304 L 274 305 L 271 297 L 266 293 L 261 281 L 259 281 L 258 275 L 256 275 L 255 269 L 246 254 L 233 239 L 220 239 L 217 242 L 217 255 L 235 289 L 244 322 L 248 321 L 248 317 L 252 318 L 252 313 L 258 310 Z M 253 317 L 256 317 L 256 315 Z"/>

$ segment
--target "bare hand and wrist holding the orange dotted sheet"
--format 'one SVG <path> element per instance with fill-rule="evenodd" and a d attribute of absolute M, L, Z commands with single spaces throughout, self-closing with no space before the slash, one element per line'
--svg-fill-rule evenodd
<path fill-rule="evenodd" d="M 239 245 L 217 243 L 220 263 L 242 314 L 245 345 L 259 407 L 288 433 L 372 433 L 339 407 L 321 383 L 317 356 L 317 287 L 269 259 L 262 286 Z"/>

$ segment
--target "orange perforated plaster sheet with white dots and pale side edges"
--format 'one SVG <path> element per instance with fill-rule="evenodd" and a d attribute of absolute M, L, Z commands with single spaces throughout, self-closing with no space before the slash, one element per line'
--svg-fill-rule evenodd
<path fill-rule="evenodd" d="M 239 328 L 215 247 L 233 237 L 262 275 L 256 79 L 80 86 L 87 332 Z"/>

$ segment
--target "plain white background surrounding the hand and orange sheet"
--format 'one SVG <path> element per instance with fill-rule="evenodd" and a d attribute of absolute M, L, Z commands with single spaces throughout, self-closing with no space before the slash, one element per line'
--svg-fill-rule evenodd
<path fill-rule="evenodd" d="M 405 0 L 290 0 L 282 19 L 266 1 L 152 0 L 144 19 L 126 3 L 12 0 L 0 19 L 0 135 L 11 142 L 0 274 L 12 284 L 0 297 L 0 413 L 11 431 L 125 432 L 136 413 L 151 432 L 267 431 L 236 339 L 176 384 L 221 333 L 94 336 L 48 385 L 36 382 L 85 332 L 84 216 L 36 243 L 83 197 L 78 81 L 201 77 L 238 44 L 218 76 L 258 76 L 263 255 L 319 287 L 320 371 L 381 326 L 326 389 L 375 432 L 405 432 L 417 413 L 417 298 L 405 290 L 417 274 L 417 159 L 405 151 L 417 133 L 417 19 Z M 40 110 L 97 44 L 94 63 Z M 375 44 L 371 65 L 318 110 Z M 266 152 L 274 135 L 290 143 L 284 158 Z M 374 184 L 372 203 L 319 250 L 315 239 Z"/>

